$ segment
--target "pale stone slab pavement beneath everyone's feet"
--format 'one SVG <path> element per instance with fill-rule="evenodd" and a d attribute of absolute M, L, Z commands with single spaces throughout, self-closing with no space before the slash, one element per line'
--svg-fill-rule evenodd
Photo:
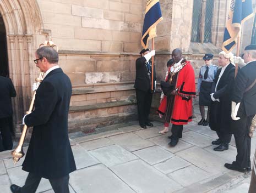
<path fill-rule="evenodd" d="M 198 115 L 198 109 L 194 109 Z M 211 141 L 215 132 L 198 126 L 195 120 L 184 127 L 177 146 L 168 146 L 168 134 L 159 134 L 164 125 L 141 129 L 137 122 L 106 127 L 105 131 L 86 135 L 70 134 L 78 170 L 70 174 L 71 193 L 246 193 L 250 173 L 229 171 L 224 163 L 235 160 L 236 147 L 215 152 Z M 103 132 L 104 131 L 104 132 Z M 256 137 L 252 139 L 252 156 Z M 10 184 L 23 185 L 27 173 L 21 159 L 14 166 L 10 151 L 0 154 L 0 192 L 10 192 Z M 37 192 L 52 193 L 43 179 Z"/>

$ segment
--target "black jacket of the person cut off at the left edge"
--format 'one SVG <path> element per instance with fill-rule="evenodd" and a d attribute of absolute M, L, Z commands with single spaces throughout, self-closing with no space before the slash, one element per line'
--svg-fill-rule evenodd
<path fill-rule="evenodd" d="M 16 96 L 16 91 L 12 80 L 0 76 L 0 118 L 6 118 L 13 115 L 11 97 Z"/>

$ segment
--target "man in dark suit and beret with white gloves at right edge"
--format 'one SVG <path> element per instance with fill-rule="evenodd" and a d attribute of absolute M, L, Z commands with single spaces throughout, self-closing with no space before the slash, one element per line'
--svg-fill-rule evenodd
<path fill-rule="evenodd" d="M 239 172 L 251 171 L 250 168 L 250 125 L 256 114 L 256 45 L 244 49 L 246 66 L 238 71 L 232 93 L 232 132 L 235 137 L 237 156 L 232 164 L 225 167 Z"/>

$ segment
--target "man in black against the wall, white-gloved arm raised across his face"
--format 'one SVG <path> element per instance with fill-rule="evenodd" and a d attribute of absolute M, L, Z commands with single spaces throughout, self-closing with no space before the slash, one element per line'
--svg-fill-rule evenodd
<path fill-rule="evenodd" d="M 156 72 L 154 66 L 153 90 L 151 90 L 152 65 L 150 58 L 155 55 L 155 50 L 149 52 L 149 49 L 143 49 L 140 52 L 141 57 L 136 60 L 136 79 L 134 88 L 136 90 L 138 117 L 140 127 L 152 127 L 149 122 L 149 113 L 152 102 L 152 95 L 155 92 Z"/>

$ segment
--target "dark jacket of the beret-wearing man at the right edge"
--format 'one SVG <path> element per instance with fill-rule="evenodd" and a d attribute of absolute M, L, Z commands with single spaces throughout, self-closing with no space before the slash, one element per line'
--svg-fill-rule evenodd
<path fill-rule="evenodd" d="M 232 94 L 232 101 L 242 102 L 246 116 L 256 114 L 256 84 L 245 92 L 256 79 L 256 61 L 248 63 L 238 71 Z M 242 107 L 241 106 L 241 107 Z"/>

